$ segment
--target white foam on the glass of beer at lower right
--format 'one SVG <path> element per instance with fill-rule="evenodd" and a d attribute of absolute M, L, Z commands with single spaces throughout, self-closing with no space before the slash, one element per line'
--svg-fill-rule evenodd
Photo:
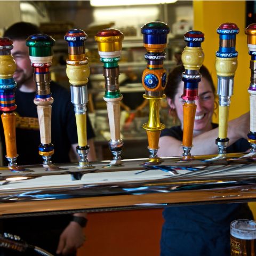
<path fill-rule="evenodd" d="M 231 223 L 230 234 L 238 239 L 256 239 L 256 222 L 252 220 L 234 221 Z"/>

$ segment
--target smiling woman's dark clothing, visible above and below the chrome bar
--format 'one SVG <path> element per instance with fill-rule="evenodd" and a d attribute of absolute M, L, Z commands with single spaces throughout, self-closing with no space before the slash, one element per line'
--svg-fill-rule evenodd
<path fill-rule="evenodd" d="M 213 124 L 213 129 L 216 127 Z M 164 136 L 182 141 L 181 126 L 164 129 L 161 137 Z M 247 140 L 240 139 L 227 151 L 244 152 L 249 148 Z M 161 256 L 229 256 L 230 222 L 253 219 L 247 203 L 171 206 L 164 209 L 163 217 Z"/>

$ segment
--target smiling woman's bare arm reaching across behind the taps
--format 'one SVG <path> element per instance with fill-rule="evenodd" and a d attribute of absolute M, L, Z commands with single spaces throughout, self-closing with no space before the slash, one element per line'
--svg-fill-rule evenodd
<path fill-rule="evenodd" d="M 246 113 L 228 123 L 229 146 L 240 138 L 247 139 L 247 133 L 250 128 L 250 113 Z M 218 153 L 218 147 L 215 139 L 218 138 L 218 128 L 204 132 L 193 138 L 193 155 L 211 155 Z M 159 139 L 159 149 L 157 155 L 159 157 L 182 156 L 182 141 L 174 137 L 164 136 Z"/>

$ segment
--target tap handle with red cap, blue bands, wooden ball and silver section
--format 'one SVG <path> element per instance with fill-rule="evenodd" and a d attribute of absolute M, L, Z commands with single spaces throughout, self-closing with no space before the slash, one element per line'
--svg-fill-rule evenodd
<path fill-rule="evenodd" d="M 219 135 L 216 139 L 218 153 L 226 154 L 228 146 L 228 113 L 233 95 L 234 76 L 237 69 L 236 34 L 239 29 L 234 23 L 223 23 L 217 29 L 219 50 L 216 52 L 215 68 L 218 76 Z"/>

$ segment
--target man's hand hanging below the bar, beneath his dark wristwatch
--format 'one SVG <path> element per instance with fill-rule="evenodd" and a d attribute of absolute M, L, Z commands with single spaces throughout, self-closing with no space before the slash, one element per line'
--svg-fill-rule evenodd
<path fill-rule="evenodd" d="M 60 235 L 56 253 L 61 255 L 73 253 L 84 244 L 84 241 L 83 228 L 77 222 L 70 221 Z"/>

